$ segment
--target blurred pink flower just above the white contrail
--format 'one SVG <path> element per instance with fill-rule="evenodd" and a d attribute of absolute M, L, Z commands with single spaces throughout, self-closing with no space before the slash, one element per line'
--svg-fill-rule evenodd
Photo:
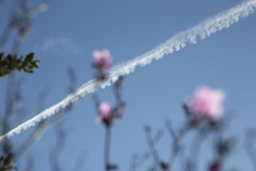
<path fill-rule="evenodd" d="M 111 54 L 108 49 L 102 51 L 95 50 L 92 52 L 94 58 L 93 66 L 97 69 L 108 70 L 111 66 Z"/>

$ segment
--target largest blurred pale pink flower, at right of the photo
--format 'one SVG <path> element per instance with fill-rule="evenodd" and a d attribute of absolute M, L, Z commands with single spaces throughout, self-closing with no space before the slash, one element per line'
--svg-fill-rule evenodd
<path fill-rule="evenodd" d="M 187 105 L 195 117 L 207 117 L 215 121 L 223 113 L 224 98 L 223 90 L 203 86 L 195 89 L 195 94 L 189 98 Z"/>

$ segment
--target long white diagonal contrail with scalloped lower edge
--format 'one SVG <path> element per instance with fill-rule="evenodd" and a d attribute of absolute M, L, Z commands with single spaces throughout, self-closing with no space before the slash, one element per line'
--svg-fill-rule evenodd
<path fill-rule="evenodd" d="M 119 76 L 130 74 L 134 71 L 136 66 L 146 66 L 152 62 L 152 60 L 160 60 L 165 54 L 172 54 L 172 52 L 184 48 L 186 43 L 196 43 L 196 37 L 199 36 L 201 39 L 211 36 L 216 31 L 221 31 L 223 28 L 228 28 L 231 24 L 237 22 L 240 18 L 247 17 L 248 14 L 252 14 L 256 8 L 256 0 L 247 0 L 239 5 L 225 10 L 211 18 L 201 22 L 200 24 L 189 28 L 187 31 L 178 32 L 176 35 L 171 37 L 166 43 L 160 44 L 156 48 L 148 51 L 145 54 L 137 56 L 133 60 L 126 61 L 114 66 L 113 69 L 109 71 L 108 80 L 104 83 L 100 83 L 100 87 L 105 88 L 109 86 L 111 82 L 115 82 Z M 56 105 L 45 109 L 39 113 L 36 117 L 20 124 L 17 128 L 12 129 L 7 134 L 0 136 L 0 142 L 4 138 L 9 138 L 14 134 L 20 134 L 21 129 L 26 130 L 34 126 L 36 123 L 42 121 L 46 117 L 54 115 L 56 112 L 65 108 L 69 104 L 73 104 L 79 99 L 84 98 L 87 94 L 96 91 L 96 80 L 90 80 L 88 83 L 84 83 L 79 89 L 77 89 L 73 94 L 69 94 L 67 98 L 61 100 Z"/>

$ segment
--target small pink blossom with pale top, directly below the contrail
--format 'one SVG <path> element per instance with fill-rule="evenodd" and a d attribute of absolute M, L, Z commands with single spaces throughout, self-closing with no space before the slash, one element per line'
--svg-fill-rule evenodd
<path fill-rule="evenodd" d="M 111 114 L 111 105 L 106 101 L 102 101 L 99 106 L 99 114 L 100 117 L 96 118 L 97 124 L 102 123 L 104 120 L 108 120 Z"/>

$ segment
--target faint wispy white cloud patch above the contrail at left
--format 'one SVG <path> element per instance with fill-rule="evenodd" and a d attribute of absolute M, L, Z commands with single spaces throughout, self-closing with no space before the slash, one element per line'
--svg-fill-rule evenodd
<path fill-rule="evenodd" d="M 43 52 L 54 51 L 57 54 L 80 54 L 79 44 L 68 37 L 45 37 L 43 43 L 34 46 Z"/>

